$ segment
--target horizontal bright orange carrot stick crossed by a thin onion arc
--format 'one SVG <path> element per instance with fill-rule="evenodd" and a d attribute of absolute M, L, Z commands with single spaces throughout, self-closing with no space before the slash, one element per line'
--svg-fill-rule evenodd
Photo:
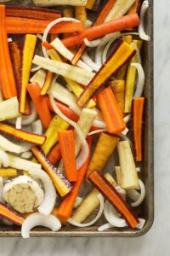
<path fill-rule="evenodd" d="M 20 17 L 6 17 L 5 26 L 9 34 L 27 34 L 27 33 L 43 33 L 46 26 L 51 20 L 36 20 Z M 64 33 L 64 32 L 81 32 L 83 24 L 81 22 L 60 22 L 54 25 L 49 33 Z"/>

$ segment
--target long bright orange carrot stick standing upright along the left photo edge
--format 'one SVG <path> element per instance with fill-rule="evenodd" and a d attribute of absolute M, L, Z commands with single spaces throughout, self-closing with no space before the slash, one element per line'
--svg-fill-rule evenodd
<path fill-rule="evenodd" d="M 17 90 L 14 80 L 13 66 L 8 50 L 5 5 L 0 5 L 0 20 L 0 83 L 3 90 L 3 96 L 5 99 L 8 99 L 17 96 Z"/>

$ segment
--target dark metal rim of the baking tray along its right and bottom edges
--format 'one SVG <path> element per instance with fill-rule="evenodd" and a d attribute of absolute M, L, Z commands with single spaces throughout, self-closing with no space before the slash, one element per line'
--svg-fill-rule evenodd
<path fill-rule="evenodd" d="M 2 2 L 1 2 L 2 3 Z M 7 5 L 29 5 L 33 6 L 31 0 L 9 1 Z M 142 49 L 142 61 L 145 73 L 144 96 L 147 99 L 144 112 L 144 160 L 141 163 L 141 175 L 144 180 L 146 196 L 142 206 L 137 209 L 140 218 L 145 218 L 146 222 L 142 230 L 132 230 L 129 228 L 112 228 L 99 232 L 97 228 L 100 224 L 105 224 L 105 218 L 99 220 L 94 226 L 88 228 L 76 228 L 71 225 L 63 226 L 58 232 L 53 232 L 45 228 L 35 228 L 31 231 L 31 236 L 53 237 L 53 236 L 96 236 L 111 237 L 142 236 L 148 230 L 154 220 L 154 115 L 153 115 L 153 1 L 150 0 L 150 8 L 147 12 L 146 30 L 150 34 L 150 41 L 144 42 Z M 106 166 L 107 171 L 112 170 L 112 162 Z M 0 225 L 0 236 L 20 236 L 20 227 L 12 225 Z"/>

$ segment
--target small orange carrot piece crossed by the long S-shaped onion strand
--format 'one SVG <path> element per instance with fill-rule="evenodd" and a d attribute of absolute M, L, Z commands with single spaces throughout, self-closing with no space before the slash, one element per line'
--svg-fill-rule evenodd
<path fill-rule="evenodd" d="M 46 101 L 48 102 L 48 108 L 51 111 L 54 111 L 54 109 L 51 106 L 51 103 L 49 102 L 49 98 L 46 98 Z M 77 122 L 77 120 L 79 119 L 79 116 L 77 115 L 77 113 L 73 112 L 68 106 L 66 106 L 64 103 L 59 102 L 57 100 L 55 100 L 55 104 L 57 105 L 57 107 L 59 108 L 59 110 L 65 114 L 66 117 L 68 117 L 69 119 L 73 120 L 74 122 Z"/>

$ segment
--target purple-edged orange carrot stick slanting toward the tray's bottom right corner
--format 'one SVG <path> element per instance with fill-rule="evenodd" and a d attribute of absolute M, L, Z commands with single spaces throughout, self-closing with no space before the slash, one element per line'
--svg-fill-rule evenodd
<path fill-rule="evenodd" d="M 88 180 L 94 184 L 94 187 L 110 201 L 113 207 L 116 207 L 118 212 L 122 213 L 122 216 L 126 219 L 127 224 L 131 228 L 135 228 L 139 224 L 139 219 L 135 216 L 132 209 L 127 205 L 127 202 L 122 199 L 122 196 L 116 191 L 116 189 L 107 181 L 105 176 L 98 171 L 92 172 Z"/>

